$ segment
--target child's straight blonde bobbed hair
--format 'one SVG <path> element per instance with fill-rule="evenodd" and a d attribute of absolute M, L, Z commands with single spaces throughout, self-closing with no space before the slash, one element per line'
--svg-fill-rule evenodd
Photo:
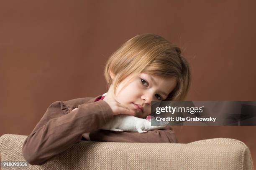
<path fill-rule="evenodd" d="M 115 81 L 110 71 L 115 75 Z M 189 64 L 179 47 L 159 35 L 141 34 L 126 41 L 113 52 L 104 70 L 108 87 L 113 84 L 114 94 L 120 82 L 128 76 L 131 80 L 139 73 L 177 80 L 176 87 L 165 100 L 184 100 L 187 96 L 191 84 Z"/>

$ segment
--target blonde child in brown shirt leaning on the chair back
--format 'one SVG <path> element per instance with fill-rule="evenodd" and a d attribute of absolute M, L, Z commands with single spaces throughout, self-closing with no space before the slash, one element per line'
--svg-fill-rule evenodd
<path fill-rule="evenodd" d="M 151 101 L 184 100 L 191 78 L 179 47 L 155 34 L 137 35 L 109 58 L 108 92 L 53 102 L 23 143 L 23 157 L 42 165 L 81 140 L 177 143 L 170 126 L 148 133 L 100 130 L 113 116 L 151 114 Z"/>

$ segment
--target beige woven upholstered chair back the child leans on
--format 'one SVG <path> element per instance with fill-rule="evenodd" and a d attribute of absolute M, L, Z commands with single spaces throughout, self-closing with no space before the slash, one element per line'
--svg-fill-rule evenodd
<path fill-rule="evenodd" d="M 25 139 L 24 135 L 2 135 L 1 161 L 25 161 L 22 156 Z M 19 169 L 253 170 L 253 163 L 248 147 L 239 140 L 228 138 L 188 144 L 81 141 L 44 165 L 29 165 L 28 168 Z"/>

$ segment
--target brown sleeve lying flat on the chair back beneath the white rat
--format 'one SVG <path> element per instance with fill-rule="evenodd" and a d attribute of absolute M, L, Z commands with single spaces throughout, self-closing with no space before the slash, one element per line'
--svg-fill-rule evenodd
<path fill-rule="evenodd" d="M 105 142 L 178 143 L 171 126 L 166 126 L 164 129 L 151 130 L 147 133 L 96 130 L 90 133 L 90 139 Z"/>

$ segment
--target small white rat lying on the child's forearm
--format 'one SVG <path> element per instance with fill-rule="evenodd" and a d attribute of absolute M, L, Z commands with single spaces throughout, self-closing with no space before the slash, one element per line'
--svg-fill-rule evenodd
<path fill-rule="evenodd" d="M 158 122 L 159 126 L 151 126 L 151 120 L 156 121 L 153 116 L 147 116 L 146 119 L 141 119 L 132 115 L 115 115 L 114 119 L 106 123 L 100 129 L 102 130 L 112 130 L 116 132 L 138 132 L 138 133 L 147 133 L 148 130 L 162 129 L 168 122 Z M 159 124 L 161 123 L 161 124 Z"/>

